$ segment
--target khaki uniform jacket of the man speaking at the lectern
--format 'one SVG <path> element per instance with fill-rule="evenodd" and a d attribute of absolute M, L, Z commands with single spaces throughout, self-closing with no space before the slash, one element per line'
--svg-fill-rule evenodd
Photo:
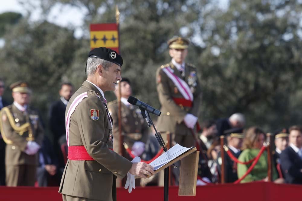
<path fill-rule="evenodd" d="M 116 200 L 115 179 L 124 178 L 132 162 L 111 150 L 111 123 L 103 103 L 104 99 L 94 85 L 87 81 L 82 84 L 69 100 L 66 115 L 74 99 L 84 92 L 87 92 L 88 97 L 80 102 L 70 118 L 69 146 L 84 146 L 95 160 L 68 160 L 59 192 L 87 199 Z M 99 110 L 98 120 L 92 120 L 91 109 Z"/>

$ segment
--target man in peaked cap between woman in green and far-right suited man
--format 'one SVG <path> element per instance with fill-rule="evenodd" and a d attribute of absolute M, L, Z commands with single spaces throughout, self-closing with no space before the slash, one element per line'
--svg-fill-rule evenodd
<path fill-rule="evenodd" d="M 288 133 L 286 133 L 286 129 L 284 129 L 285 132 L 278 132 L 275 134 L 275 146 L 276 149 L 273 152 L 273 159 L 275 162 L 275 166 L 277 169 L 278 177 L 283 177 L 284 172 L 281 169 L 280 165 L 280 155 L 283 150 L 285 150 L 288 147 Z"/>

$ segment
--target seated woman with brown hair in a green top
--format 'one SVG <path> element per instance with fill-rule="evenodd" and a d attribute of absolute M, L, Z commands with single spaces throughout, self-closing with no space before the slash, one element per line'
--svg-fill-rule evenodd
<path fill-rule="evenodd" d="M 260 149 L 263 146 L 265 140 L 265 133 L 258 127 L 251 127 L 246 131 L 245 138 L 243 140 L 243 152 L 239 155 L 239 161 L 248 162 L 249 160 L 255 158 Z M 243 165 L 237 164 L 237 174 L 238 178 L 241 178 L 252 163 Z M 259 161 L 253 168 L 253 170 L 240 182 L 252 182 L 252 181 L 268 181 L 268 157 L 267 152 L 263 152 L 259 158 Z M 273 180 L 276 180 L 276 183 L 282 183 L 283 179 L 277 179 L 277 173 L 275 167 L 273 167 Z"/>

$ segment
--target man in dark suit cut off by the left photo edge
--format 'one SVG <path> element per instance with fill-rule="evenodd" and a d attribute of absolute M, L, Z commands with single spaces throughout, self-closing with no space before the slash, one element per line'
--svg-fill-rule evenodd
<path fill-rule="evenodd" d="M 0 78 L 0 110 L 8 106 L 8 102 L 2 98 L 4 87 L 4 80 Z M 5 146 L 6 144 L 0 133 L 0 186 L 5 186 Z"/>

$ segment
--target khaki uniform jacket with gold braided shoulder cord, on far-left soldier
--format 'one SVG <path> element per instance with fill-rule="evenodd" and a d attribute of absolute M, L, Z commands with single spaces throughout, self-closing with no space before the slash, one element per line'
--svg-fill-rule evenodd
<path fill-rule="evenodd" d="M 43 141 L 43 128 L 37 111 L 31 108 L 21 112 L 14 104 L 1 110 L 0 129 L 6 145 L 5 165 L 38 165 L 38 154 L 27 155 L 24 151 L 28 141 L 40 146 Z"/>

